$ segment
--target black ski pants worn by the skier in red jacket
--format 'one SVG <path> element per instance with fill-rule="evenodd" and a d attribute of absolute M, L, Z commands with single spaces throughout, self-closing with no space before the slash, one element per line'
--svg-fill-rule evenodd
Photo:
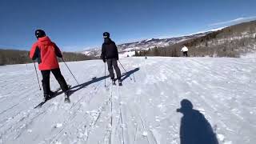
<path fill-rule="evenodd" d="M 50 94 L 50 72 L 54 74 L 54 77 L 57 79 L 58 84 L 61 86 L 62 91 L 66 92 L 68 90 L 68 86 L 64 77 L 62 76 L 61 70 L 52 69 L 52 70 L 41 70 L 42 73 L 42 88 L 43 94 Z"/>

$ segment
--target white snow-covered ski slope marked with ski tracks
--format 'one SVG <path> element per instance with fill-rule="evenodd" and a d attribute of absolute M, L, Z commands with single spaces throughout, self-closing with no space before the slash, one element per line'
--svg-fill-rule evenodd
<path fill-rule="evenodd" d="M 183 125 L 189 135 L 209 122 L 219 144 L 256 142 L 256 59 L 120 61 L 131 78 L 124 76 L 122 87 L 111 86 L 109 78 L 104 86 L 101 60 L 67 63 L 80 86 L 62 63 L 73 86 L 71 102 L 59 94 L 40 109 L 34 109 L 42 99 L 34 66 L 0 66 L 0 143 L 178 144 L 182 114 L 176 110 L 185 98 L 206 118 Z M 53 76 L 50 82 L 52 90 L 58 88 Z"/>

